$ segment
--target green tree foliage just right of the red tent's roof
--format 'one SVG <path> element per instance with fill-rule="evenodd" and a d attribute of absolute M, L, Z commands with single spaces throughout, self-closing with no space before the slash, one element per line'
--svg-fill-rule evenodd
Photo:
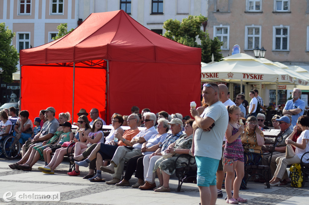
<path fill-rule="evenodd" d="M 209 38 L 208 32 L 201 30 L 202 23 L 205 21 L 207 17 L 201 14 L 199 16 L 189 15 L 181 22 L 177 19 L 168 19 L 163 24 L 166 30 L 164 36 L 186 46 L 201 48 L 202 62 L 211 62 L 212 54 L 214 54 L 214 61 L 220 61 L 223 58 L 220 53 L 223 42 L 220 42 L 217 37 Z"/>

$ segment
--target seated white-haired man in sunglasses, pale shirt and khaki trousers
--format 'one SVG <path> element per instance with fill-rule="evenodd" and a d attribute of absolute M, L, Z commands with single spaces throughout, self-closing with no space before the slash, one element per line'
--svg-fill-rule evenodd
<path fill-rule="evenodd" d="M 135 137 L 133 137 L 131 140 L 133 149 L 131 147 L 118 147 L 110 165 L 107 167 L 100 167 L 102 171 L 112 174 L 113 179 L 106 182 L 107 184 L 119 183 L 121 181 L 121 175 L 123 173 L 125 162 L 128 162 L 131 157 L 142 154 L 142 144 L 146 142 L 145 138 L 149 139 L 152 135 L 158 133 L 155 129 L 156 119 L 157 118 L 154 113 L 144 113 L 144 124 L 146 130 L 140 131 Z"/>

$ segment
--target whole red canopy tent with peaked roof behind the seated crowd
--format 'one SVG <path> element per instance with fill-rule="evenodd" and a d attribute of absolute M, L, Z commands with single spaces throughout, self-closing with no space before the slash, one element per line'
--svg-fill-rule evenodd
<path fill-rule="evenodd" d="M 189 103 L 200 101 L 201 49 L 148 30 L 123 10 L 93 13 L 66 36 L 21 50 L 20 65 L 21 108 L 30 119 L 50 106 L 74 121 L 93 107 L 103 119 L 128 115 L 133 105 L 189 115 Z"/>

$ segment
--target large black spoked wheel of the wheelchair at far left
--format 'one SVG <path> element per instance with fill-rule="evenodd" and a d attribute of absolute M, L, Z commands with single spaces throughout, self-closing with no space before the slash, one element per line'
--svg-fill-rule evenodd
<path fill-rule="evenodd" d="M 6 137 L 2 142 L 2 152 L 8 159 L 15 159 L 20 152 L 19 140 L 14 136 Z"/>

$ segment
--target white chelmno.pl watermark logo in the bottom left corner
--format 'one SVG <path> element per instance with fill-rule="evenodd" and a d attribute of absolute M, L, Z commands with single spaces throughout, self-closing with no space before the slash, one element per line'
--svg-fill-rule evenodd
<path fill-rule="evenodd" d="M 60 201 L 59 191 L 17 191 L 13 196 L 11 191 L 4 193 L 3 200 L 10 202 L 15 198 L 16 201 Z"/>

